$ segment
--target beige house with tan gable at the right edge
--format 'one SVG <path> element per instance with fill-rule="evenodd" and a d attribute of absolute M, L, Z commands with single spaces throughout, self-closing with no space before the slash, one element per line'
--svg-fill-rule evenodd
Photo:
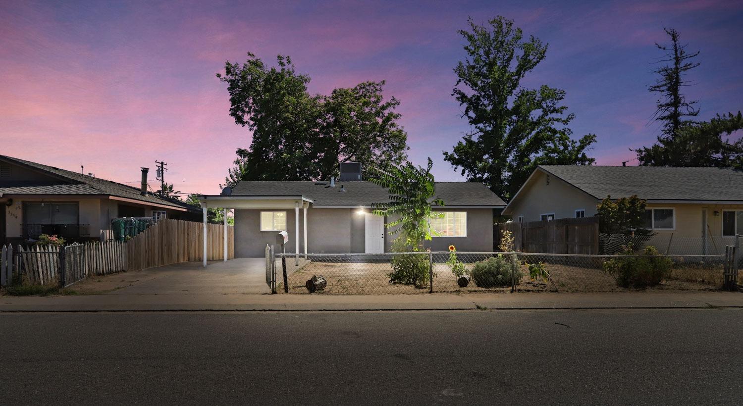
<path fill-rule="evenodd" d="M 647 201 L 646 228 L 661 248 L 719 253 L 743 234 L 743 171 L 732 168 L 542 165 L 503 215 L 520 222 L 590 217 L 606 196 L 635 194 Z"/>

